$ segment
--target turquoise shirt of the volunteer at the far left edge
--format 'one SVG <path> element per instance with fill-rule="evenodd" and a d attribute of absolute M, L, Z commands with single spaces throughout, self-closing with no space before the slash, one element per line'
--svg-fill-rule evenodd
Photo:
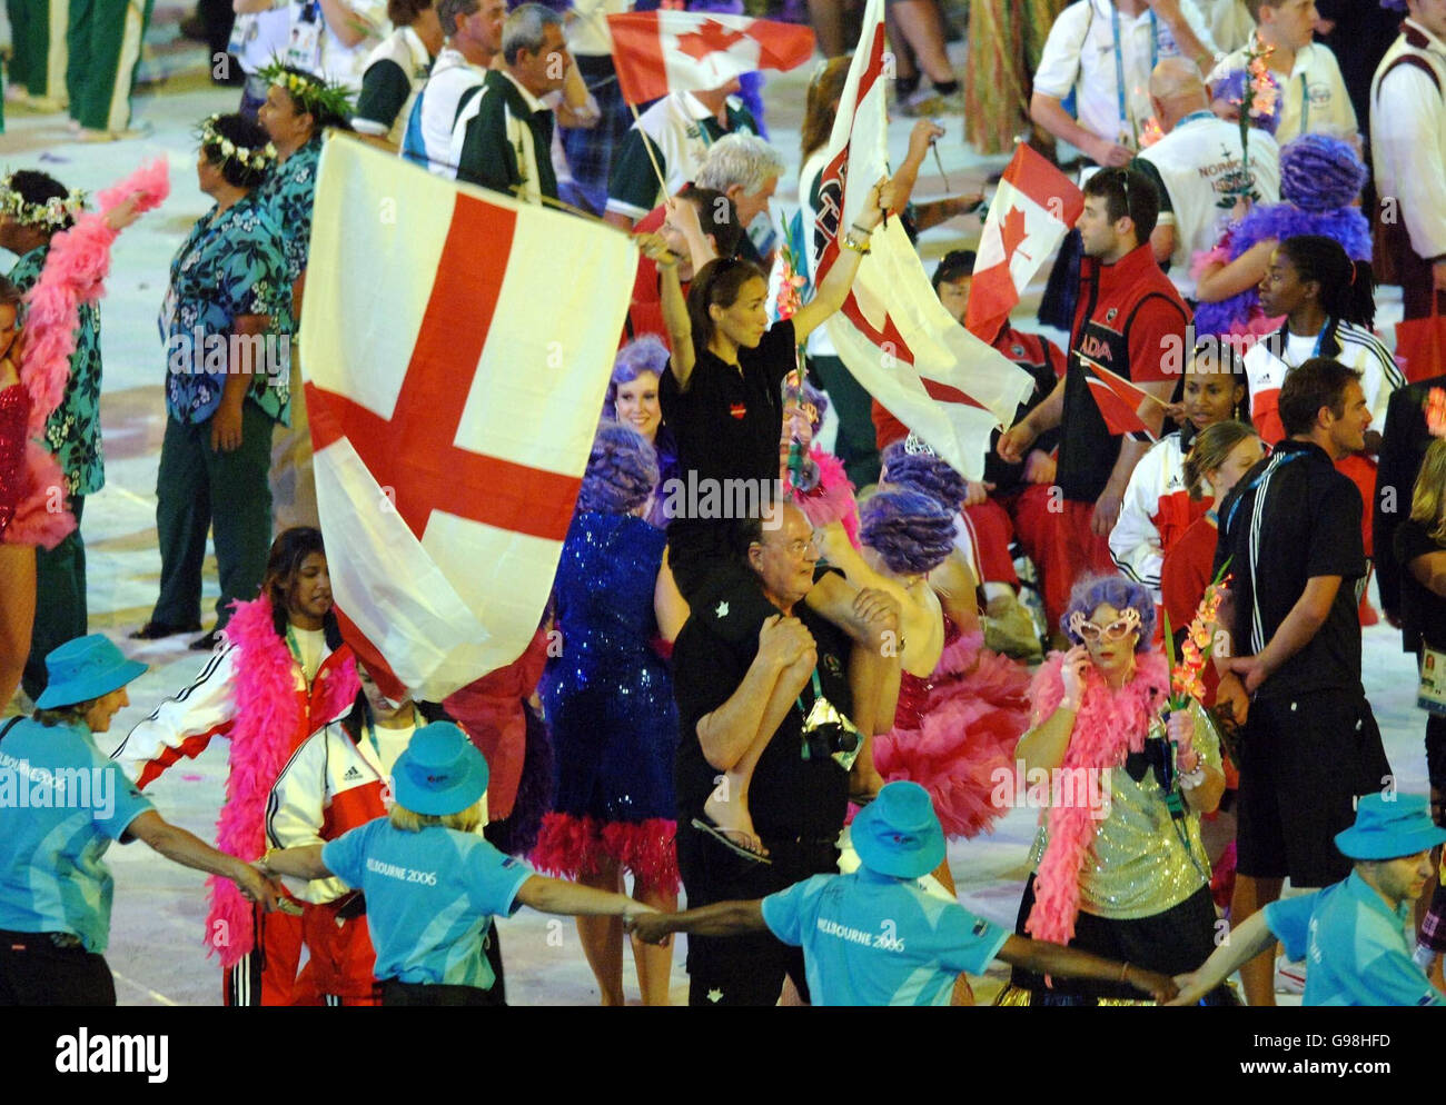
<path fill-rule="evenodd" d="M 0 737 L 0 929 L 65 932 L 103 953 L 106 849 L 149 809 L 84 724 L 16 722 Z"/>

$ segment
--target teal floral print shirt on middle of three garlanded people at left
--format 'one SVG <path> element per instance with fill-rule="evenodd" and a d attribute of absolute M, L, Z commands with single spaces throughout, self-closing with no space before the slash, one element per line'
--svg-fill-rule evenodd
<path fill-rule="evenodd" d="M 233 335 L 241 315 L 269 316 L 266 334 Z M 291 280 L 281 230 L 254 192 L 221 214 L 213 208 L 197 220 L 171 261 L 171 287 L 158 322 L 171 417 L 210 419 L 221 406 L 230 368 L 254 376 L 247 396 L 291 425 Z"/>

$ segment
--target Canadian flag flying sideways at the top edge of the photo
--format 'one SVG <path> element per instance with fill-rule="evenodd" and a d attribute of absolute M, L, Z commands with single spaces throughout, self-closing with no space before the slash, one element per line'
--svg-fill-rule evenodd
<path fill-rule="evenodd" d="M 814 48 L 808 27 L 703 12 L 629 12 L 607 16 L 607 30 L 630 104 L 720 88 L 756 69 L 795 69 Z"/>

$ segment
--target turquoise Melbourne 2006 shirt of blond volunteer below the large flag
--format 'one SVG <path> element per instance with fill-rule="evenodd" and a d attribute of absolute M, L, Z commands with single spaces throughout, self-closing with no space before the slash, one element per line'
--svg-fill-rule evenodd
<path fill-rule="evenodd" d="M 474 833 L 377 818 L 330 841 L 321 862 L 366 896 L 376 976 L 476 987 L 496 982 L 482 950 L 493 914 L 510 916 L 534 871 Z"/>

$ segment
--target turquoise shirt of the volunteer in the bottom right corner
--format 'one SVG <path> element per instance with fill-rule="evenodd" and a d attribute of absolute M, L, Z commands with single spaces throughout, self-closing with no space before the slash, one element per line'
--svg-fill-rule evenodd
<path fill-rule="evenodd" d="M 1306 962 L 1303 1005 L 1440 1005 L 1411 959 L 1411 907 L 1385 904 L 1355 871 L 1314 894 L 1272 901 L 1265 924 L 1291 959 Z"/>

